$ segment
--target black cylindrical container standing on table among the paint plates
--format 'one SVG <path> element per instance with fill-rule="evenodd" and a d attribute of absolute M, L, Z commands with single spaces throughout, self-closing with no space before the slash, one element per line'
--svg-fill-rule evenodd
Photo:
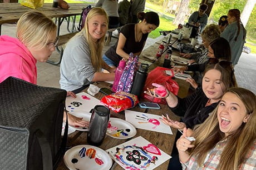
<path fill-rule="evenodd" d="M 99 146 L 103 142 L 107 124 L 109 124 L 110 109 L 106 106 L 96 105 L 93 108 L 87 133 L 87 142 L 93 146 Z"/>

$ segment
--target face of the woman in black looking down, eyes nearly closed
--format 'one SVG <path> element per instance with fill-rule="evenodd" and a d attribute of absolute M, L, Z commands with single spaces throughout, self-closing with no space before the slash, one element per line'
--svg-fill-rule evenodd
<path fill-rule="evenodd" d="M 202 88 L 205 96 L 212 102 L 218 102 L 223 95 L 225 86 L 221 81 L 221 73 L 216 69 L 210 69 L 204 74 Z"/>

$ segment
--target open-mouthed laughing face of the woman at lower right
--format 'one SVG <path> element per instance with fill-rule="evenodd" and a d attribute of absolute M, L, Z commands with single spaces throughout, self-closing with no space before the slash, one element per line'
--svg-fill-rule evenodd
<path fill-rule="evenodd" d="M 225 133 L 225 136 L 237 131 L 242 123 L 246 123 L 249 118 L 243 102 L 231 92 L 224 94 L 217 114 L 220 131 Z"/>

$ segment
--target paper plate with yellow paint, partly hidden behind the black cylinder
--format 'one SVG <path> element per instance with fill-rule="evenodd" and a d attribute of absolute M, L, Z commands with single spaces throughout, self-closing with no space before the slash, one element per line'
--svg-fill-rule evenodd
<path fill-rule="evenodd" d="M 110 118 L 106 133 L 108 136 L 117 139 L 128 139 L 134 137 L 136 133 L 136 128 L 131 123 L 119 118 Z"/>

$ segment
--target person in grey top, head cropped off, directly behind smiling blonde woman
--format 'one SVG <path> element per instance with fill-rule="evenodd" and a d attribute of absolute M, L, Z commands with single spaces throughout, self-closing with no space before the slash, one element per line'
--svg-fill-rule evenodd
<path fill-rule="evenodd" d="M 109 28 L 119 27 L 119 13 L 117 0 L 99 0 L 95 7 L 105 9 L 107 16 L 109 16 Z"/>

